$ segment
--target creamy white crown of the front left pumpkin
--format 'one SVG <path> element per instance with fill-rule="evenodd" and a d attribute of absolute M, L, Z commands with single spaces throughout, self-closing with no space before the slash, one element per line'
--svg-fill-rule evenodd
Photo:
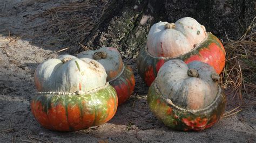
<path fill-rule="evenodd" d="M 41 63 L 35 71 L 37 91 L 77 92 L 91 91 L 106 84 L 106 71 L 97 61 L 60 56 Z"/>

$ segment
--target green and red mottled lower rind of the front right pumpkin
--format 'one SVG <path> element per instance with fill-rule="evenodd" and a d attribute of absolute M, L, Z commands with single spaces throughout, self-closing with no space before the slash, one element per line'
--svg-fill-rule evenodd
<path fill-rule="evenodd" d="M 156 82 L 153 82 L 147 94 L 147 102 L 150 110 L 166 126 L 174 130 L 200 131 L 213 126 L 220 119 L 225 111 L 226 99 L 219 87 L 218 96 L 211 105 L 194 112 L 187 111 L 167 103 L 157 89 Z"/>

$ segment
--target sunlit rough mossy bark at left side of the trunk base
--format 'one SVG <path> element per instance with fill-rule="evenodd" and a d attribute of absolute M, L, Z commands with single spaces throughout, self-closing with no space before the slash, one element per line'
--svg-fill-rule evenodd
<path fill-rule="evenodd" d="M 164 2 L 164 1 L 163 1 Z M 164 3 L 153 0 L 110 1 L 98 26 L 85 45 L 92 49 L 116 47 L 123 58 L 136 58 L 146 43 L 152 24 L 167 17 Z"/>

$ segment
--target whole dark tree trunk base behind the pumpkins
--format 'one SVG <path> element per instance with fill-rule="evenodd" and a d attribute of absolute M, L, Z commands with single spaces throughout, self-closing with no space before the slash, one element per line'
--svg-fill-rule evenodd
<path fill-rule="evenodd" d="M 198 20 L 219 38 L 238 39 L 255 17 L 254 8 L 251 0 L 112 0 L 84 43 L 93 49 L 117 47 L 124 58 L 136 58 L 154 23 L 182 17 Z"/>

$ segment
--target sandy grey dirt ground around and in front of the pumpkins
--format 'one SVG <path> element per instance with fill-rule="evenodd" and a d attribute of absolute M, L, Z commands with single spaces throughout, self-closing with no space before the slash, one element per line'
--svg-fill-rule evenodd
<path fill-rule="evenodd" d="M 54 53 L 63 45 L 49 42 L 51 36 L 41 32 L 45 19 L 30 16 L 59 4 L 62 2 L 0 1 L 0 142 L 256 142 L 255 106 L 242 108 L 201 132 L 167 128 L 149 110 L 148 88 L 138 75 L 136 63 L 129 59 L 125 62 L 133 68 L 136 88 L 108 123 L 76 132 L 41 127 L 30 110 L 36 92 L 33 73 L 39 63 L 65 52 Z M 237 106 L 232 104 L 232 97 L 227 96 L 226 111 Z"/>

